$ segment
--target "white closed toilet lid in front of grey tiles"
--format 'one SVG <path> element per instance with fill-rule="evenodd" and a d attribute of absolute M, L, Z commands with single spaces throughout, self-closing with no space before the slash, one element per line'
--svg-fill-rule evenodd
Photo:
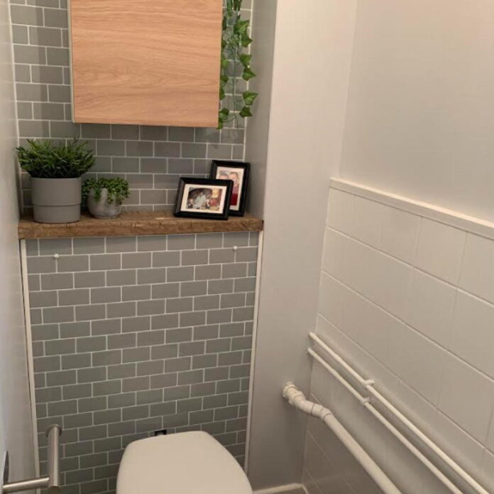
<path fill-rule="evenodd" d="M 182 432 L 129 444 L 117 494 L 252 494 L 236 459 L 206 432 Z"/>

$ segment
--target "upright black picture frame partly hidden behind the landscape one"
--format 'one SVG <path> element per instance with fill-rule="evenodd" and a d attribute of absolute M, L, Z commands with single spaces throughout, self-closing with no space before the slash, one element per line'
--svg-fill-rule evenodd
<path fill-rule="evenodd" d="M 231 180 L 233 182 L 229 210 L 230 216 L 243 216 L 245 214 L 250 171 L 251 163 L 221 160 L 214 160 L 212 163 L 212 179 Z"/>

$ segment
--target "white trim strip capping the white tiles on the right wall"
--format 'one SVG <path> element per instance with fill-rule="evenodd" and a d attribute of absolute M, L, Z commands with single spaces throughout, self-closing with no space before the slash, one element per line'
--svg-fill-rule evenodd
<path fill-rule="evenodd" d="M 367 185 L 350 182 L 341 178 L 331 178 L 331 188 L 348 192 L 371 201 L 380 202 L 387 206 L 395 207 L 417 216 L 423 216 L 439 223 L 444 223 L 455 228 L 469 231 L 472 234 L 480 235 L 494 240 L 494 223 L 484 219 L 468 216 L 458 211 L 451 211 L 443 207 L 429 204 L 427 202 L 416 201 L 409 197 L 403 197 L 383 190 L 374 189 Z"/>

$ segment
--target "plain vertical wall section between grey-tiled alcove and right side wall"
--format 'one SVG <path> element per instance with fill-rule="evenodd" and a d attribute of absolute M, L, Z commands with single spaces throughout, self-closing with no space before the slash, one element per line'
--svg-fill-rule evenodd
<path fill-rule="evenodd" d="M 255 29 L 273 25 L 276 13 L 271 38 L 265 31 L 253 47 L 254 65 L 273 58 L 273 74 L 263 80 L 270 71 L 259 71 L 263 94 L 246 153 L 253 184 L 265 191 L 251 197 L 265 219 L 248 463 L 255 489 L 301 478 L 307 420 L 283 402 L 281 388 L 287 380 L 309 388 L 307 333 L 316 322 L 329 177 L 341 150 L 353 6 L 282 0 L 275 12 L 273 0 L 254 4 Z"/>

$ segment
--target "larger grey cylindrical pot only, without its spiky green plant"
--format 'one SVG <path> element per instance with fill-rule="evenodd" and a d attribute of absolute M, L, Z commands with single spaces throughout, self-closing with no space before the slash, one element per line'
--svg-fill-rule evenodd
<path fill-rule="evenodd" d="M 81 219 L 80 178 L 31 177 L 33 219 L 38 223 L 74 223 Z"/>

